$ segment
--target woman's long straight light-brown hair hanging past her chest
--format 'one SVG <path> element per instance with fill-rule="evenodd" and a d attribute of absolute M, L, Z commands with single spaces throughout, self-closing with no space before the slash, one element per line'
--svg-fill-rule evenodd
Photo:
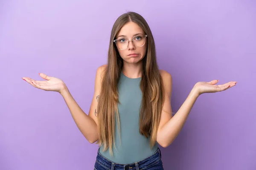
<path fill-rule="evenodd" d="M 98 101 L 99 140 L 96 144 L 104 145 L 103 151 L 109 148 L 113 155 L 112 146 L 115 146 L 115 119 L 118 121 L 120 133 L 120 122 L 117 104 L 117 84 L 122 71 L 123 60 L 114 45 L 119 30 L 128 22 L 137 23 L 148 35 L 147 51 L 143 58 L 143 72 L 140 82 L 142 101 L 140 107 L 140 133 L 145 137 L 150 136 L 150 146 L 153 147 L 157 139 L 157 130 L 160 122 L 160 113 L 164 101 L 163 80 L 157 65 L 154 38 L 145 19 L 135 12 L 122 14 L 117 18 L 111 31 L 108 50 L 108 64 L 102 79 L 102 88 Z"/>

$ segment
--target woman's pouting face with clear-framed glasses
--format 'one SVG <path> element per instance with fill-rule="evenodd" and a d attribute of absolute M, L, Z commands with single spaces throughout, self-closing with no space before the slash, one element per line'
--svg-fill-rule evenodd
<path fill-rule="evenodd" d="M 129 22 L 121 28 L 116 39 L 118 39 L 118 47 L 122 49 L 127 47 L 124 50 L 117 48 L 124 62 L 138 63 L 143 59 L 147 50 L 147 38 L 144 38 L 144 35 L 143 29 L 134 22 Z M 128 42 L 129 40 L 133 40 L 133 42 Z"/>

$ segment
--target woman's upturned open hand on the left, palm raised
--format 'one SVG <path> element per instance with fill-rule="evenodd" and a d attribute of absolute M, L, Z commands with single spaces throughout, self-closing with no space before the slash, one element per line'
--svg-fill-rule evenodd
<path fill-rule="evenodd" d="M 57 91 L 61 93 L 65 88 L 65 83 L 56 77 L 49 77 L 46 74 L 39 73 L 39 75 L 47 81 L 37 81 L 29 77 L 22 77 L 23 80 L 34 86 L 45 91 Z"/>

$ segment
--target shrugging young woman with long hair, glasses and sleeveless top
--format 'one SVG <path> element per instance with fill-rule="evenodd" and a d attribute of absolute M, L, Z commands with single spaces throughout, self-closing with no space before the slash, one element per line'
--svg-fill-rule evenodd
<path fill-rule="evenodd" d="M 81 133 L 99 144 L 95 170 L 162 170 L 158 144 L 168 147 L 174 141 L 198 96 L 236 85 L 198 82 L 172 117 L 172 76 L 158 69 L 151 30 L 134 12 L 122 14 L 113 25 L 108 63 L 96 71 L 88 115 L 61 79 L 39 75 L 46 81 L 23 79 L 35 88 L 59 92 Z"/>

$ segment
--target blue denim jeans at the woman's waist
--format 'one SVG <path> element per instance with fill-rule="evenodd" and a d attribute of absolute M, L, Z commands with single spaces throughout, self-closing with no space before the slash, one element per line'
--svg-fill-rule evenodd
<path fill-rule="evenodd" d="M 151 156 L 132 164 L 117 164 L 102 156 L 98 150 L 94 170 L 163 170 L 161 151 L 157 148 Z"/>

